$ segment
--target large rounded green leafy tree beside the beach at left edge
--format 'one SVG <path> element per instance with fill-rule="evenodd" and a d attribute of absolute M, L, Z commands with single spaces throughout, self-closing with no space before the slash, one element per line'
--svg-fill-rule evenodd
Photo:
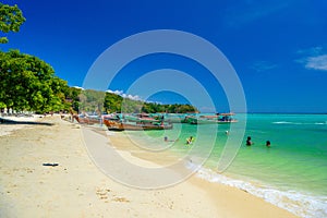
<path fill-rule="evenodd" d="M 66 109 L 69 86 L 37 57 L 0 51 L 0 108 L 37 112 Z"/>

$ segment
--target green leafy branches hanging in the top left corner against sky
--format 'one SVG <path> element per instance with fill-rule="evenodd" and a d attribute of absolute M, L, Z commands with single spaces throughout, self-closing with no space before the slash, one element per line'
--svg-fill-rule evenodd
<path fill-rule="evenodd" d="M 0 31 L 2 33 L 20 31 L 21 25 L 26 21 L 22 11 L 15 4 L 13 7 L 0 3 Z M 0 44 L 7 44 L 8 38 L 5 36 L 0 37 Z"/>

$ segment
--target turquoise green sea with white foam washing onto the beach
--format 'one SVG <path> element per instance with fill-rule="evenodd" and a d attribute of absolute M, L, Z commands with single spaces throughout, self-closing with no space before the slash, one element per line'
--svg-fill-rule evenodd
<path fill-rule="evenodd" d="M 178 138 L 169 149 L 182 156 L 192 149 L 185 145 L 190 135 L 195 137 L 194 144 L 201 138 L 197 146 L 204 149 L 192 153 L 194 159 L 206 156 L 214 142 L 198 177 L 237 186 L 301 217 L 327 217 L 327 114 L 256 113 L 234 118 L 246 119 L 245 134 L 235 158 L 221 173 L 217 172 L 221 152 L 228 137 L 241 131 L 238 125 L 242 122 L 174 124 L 172 130 L 150 131 L 146 135 L 154 141 L 162 141 L 164 136 Z M 252 146 L 245 145 L 247 136 L 252 137 Z M 266 147 L 266 141 L 271 142 L 271 147 Z M 195 162 L 185 167 L 194 168 Z"/>

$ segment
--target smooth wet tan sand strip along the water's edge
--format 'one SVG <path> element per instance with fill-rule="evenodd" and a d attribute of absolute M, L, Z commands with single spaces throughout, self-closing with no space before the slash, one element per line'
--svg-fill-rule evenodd
<path fill-rule="evenodd" d="M 150 162 L 155 162 L 159 166 L 169 166 L 172 162 L 180 161 L 180 156 L 174 154 L 171 150 L 164 150 L 164 153 L 160 153 L 160 156 L 157 155 L 157 153 L 148 153 L 147 149 L 143 149 L 142 147 L 133 144 L 133 140 L 129 138 L 129 134 L 124 134 L 123 132 L 113 133 L 114 136 L 110 137 L 111 146 L 114 145 L 114 147 L 118 150 L 130 150 L 131 155 L 141 158 L 142 160 L 147 160 Z M 132 137 L 133 138 L 133 137 Z M 183 157 L 184 158 L 184 157 Z M 187 158 L 186 158 L 187 159 Z M 190 159 L 191 160 L 191 159 Z M 185 165 L 193 165 L 194 162 L 191 161 L 185 162 Z M 185 166 L 186 167 L 186 166 Z M 190 168 L 187 167 L 191 171 Z M 203 167 L 201 167 L 202 169 Z M 218 173 L 218 172 L 216 172 Z M 221 174 L 222 177 L 226 177 Z M 230 186 L 228 184 L 222 184 L 219 182 L 210 182 L 206 180 L 205 178 L 201 177 L 197 171 L 192 172 L 192 175 L 185 180 L 186 182 L 190 182 L 191 184 L 203 189 L 207 195 L 215 202 L 215 205 L 225 205 L 228 207 L 228 211 L 233 211 L 234 208 L 239 208 L 238 211 L 233 211 L 233 214 L 228 214 L 228 217 L 262 217 L 263 211 L 267 211 L 265 214 L 266 217 L 296 217 L 296 215 L 291 214 L 290 211 L 287 211 L 283 208 L 280 208 L 269 202 L 266 202 L 264 198 L 255 196 L 251 193 L 249 193 L 246 190 L 239 189 L 235 186 Z M 218 197 L 217 197 L 218 196 Z M 226 204 L 223 198 L 228 198 L 227 202 L 234 202 L 235 204 Z M 244 201 L 235 202 L 234 198 L 242 198 Z M 249 204 L 247 204 L 249 203 Z M 249 210 L 249 208 L 253 207 L 253 204 L 256 205 L 255 207 L 259 207 L 262 209 L 256 208 L 256 211 Z M 282 210 L 281 214 L 278 214 L 277 211 L 270 213 L 271 206 L 277 208 L 278 210 Z M 272 209 L 274 210 L 274 209 Z M 276 214 L 277 213 L 277 214 Z"/>

